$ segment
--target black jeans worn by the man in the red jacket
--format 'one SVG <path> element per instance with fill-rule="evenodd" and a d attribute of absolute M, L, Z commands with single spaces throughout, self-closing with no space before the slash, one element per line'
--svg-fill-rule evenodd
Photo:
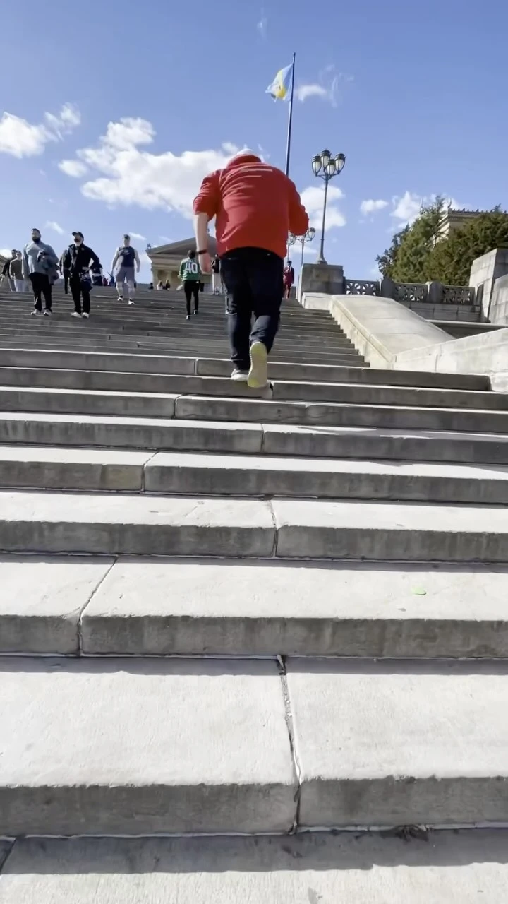
<path fill-rule="evenodd" d="M 268 352 L 274 344 L 283 270 L 283 259 L 262 248 L 237 248 L 221 258 L 222 280 L 228 290 L 231 361 L 240 371 L 249 370 L 250 344 L 262 342 Z"/>

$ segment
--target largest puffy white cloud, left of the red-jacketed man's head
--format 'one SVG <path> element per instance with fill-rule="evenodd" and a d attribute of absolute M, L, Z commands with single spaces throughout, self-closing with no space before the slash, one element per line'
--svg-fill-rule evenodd
<path fill-rule="evenodd" d="M 191 217 L 193 197 L 203 176 L 227 165 L 230 156 L 240 150 L 225 143 L 218 150 L 154 154 L 141 147 L 151 145 L 154 137 L 155 129 L 146 119 L 108 123 L 98 145 L 82 148 L 78 160 L 72 161 L 98 174 L 81 186 L 85 197 L 110 205 L 138 204 L 147 210 L 160 207 Z M 64 163 L 68 170 L 69 162 Z"/>

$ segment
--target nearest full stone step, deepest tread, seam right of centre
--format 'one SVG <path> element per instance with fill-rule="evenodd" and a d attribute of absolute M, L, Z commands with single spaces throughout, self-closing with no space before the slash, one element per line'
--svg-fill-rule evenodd
<path fill-rule="evenodd" d="M 502 661 L 289 658 L 281 674 L 252 660 L 5 657 L 0 669 L 7 836 L 508 820 Z"/>

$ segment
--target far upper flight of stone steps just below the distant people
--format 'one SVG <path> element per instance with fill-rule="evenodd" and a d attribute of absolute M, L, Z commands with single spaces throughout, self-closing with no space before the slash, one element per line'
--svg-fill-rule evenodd
<path fill-rule="evenodd" d="M 32 295 L 0 292 L 0 348 L 20 342 L 24 348 L 70 351 L 193 354 L 229 358 L 225 328 L 225 298 L 202 294 L 200 313 L 185 320 L 183 292 L 148 291 L 139 287 L 136 304 L 118 301 L 114 288 L 94 288 L 88 321 L 71 317 L 71 296 L 61 284 L 53 290 L 53 315 L 28 317 Z M 327 311 L 306 311 L 295 299 L 284 302 L 282 328 L 273 361 L 362 365 L 363 358 Z M 28 319 L 27 319 L 28 318 Z M 43 332 L 42 332 L 43 331 Z"/>

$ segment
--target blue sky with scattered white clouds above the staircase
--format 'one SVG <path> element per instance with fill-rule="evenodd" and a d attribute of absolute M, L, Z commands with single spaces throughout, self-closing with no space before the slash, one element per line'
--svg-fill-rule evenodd
<path fill-rule="evenodd" d="M 312 156 L 347 155 L 325 257 L 348 278 L 372 277 L 422 198 L 508 206 L 502 0 L 24 0 L 2 32 L 1 249 L 80 230 L 109 266 L 124 231 L 140 252 L 191 235 L 202 175 L 234 148 L 284 166 L 287 105 L 265 89 L 293 51 L 290 175 L 318 226 Z"/>

